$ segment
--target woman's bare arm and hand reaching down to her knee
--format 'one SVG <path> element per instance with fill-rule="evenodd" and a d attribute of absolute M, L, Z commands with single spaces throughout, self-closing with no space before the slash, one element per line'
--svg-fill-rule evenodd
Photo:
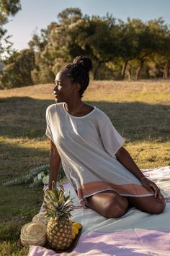
<path fill-rule="evenodd" d="M 151 193 L 154 192 L 155 197 L 158 196 L 163 200 L 164 197 L 161 195 L 160 189 L 154 182 L 147 179 L 143 175 L 142 171 L 140 171 L 140 168 L 138 168 L 138 166 L 135 164 L 135 161 L 133 161 L 133 158 L 130 156 L 128 151 L 125 150 L 125 148 L 121 147 L 115 155 L 117 160 L 140 180 L 140 182 L 143 184 L 143 187 L 146 187 L 146 189 L 148 189 L 148 191 Z"/>

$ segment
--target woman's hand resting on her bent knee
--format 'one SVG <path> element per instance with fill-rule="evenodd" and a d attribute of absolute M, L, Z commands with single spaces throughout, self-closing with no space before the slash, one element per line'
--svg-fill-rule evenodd
<path fill-rule="evenodd" d="M 140 182 L 143 184 L 143 187 L 148 189 L 149 192 L 151 192 L 152 194 L 154 193 L 154 197 L 158 196 L 159 199 L 164 201 L 164 197 L 163 195 L 161 195 L 161 190 L 154 182 L 152 182 L 150 179 L 147 179 L 146 177 L 140 180 Z"/>

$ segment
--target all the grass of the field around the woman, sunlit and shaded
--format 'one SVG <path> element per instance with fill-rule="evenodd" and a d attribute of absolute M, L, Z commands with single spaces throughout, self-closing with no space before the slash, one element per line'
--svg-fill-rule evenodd
<path fill-rule="evenodd" d="M 0 183 L 48 163 L 45 109 L 53 100 L 53 85 L 0 90 Z M 125 148 L 140 168 L 169 165 L 170 81 L 94 81 L 84 101 L 102 109 L 125 137 Z M 16 241 L 24 223 L 40 210 L 42 188 L 1 187 L 1 255 L 27 255 Z"/>

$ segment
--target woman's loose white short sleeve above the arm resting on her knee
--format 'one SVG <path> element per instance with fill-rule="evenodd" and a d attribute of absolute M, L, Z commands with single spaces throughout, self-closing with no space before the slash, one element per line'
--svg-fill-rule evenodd
<path fill-rule="evenodd" d="M 115 153 L 117 153 L 117 151 L 122 147 L 125 140 L 119 134 L 119 132 L 117 132 L 109 118 L 102 126 L 102 129 L 100 130 L 100 135 L 102 144 L 107 153 L 109 153 L 109 155 L 111 155 L 112 157 L 115 157 Z"/>

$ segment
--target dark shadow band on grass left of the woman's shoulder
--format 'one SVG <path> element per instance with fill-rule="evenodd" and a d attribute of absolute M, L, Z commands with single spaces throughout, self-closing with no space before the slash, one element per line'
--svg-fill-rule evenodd
<path fill-rule="evenodd" d="M 45 109 L 52 103 L 54 102 L 29 97 L 0 99 L 0 136 L 42 137 L 45 134 Z"/>

